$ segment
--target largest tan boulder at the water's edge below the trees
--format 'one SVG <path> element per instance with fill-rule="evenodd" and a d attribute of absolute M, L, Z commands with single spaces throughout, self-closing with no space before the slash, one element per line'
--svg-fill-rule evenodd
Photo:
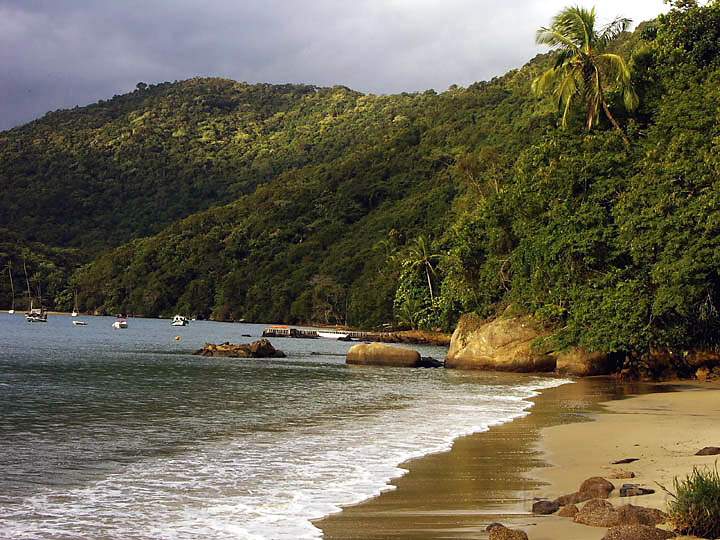
<path fill-rule="evenodd" d="M 555 358 L 533 346 L 548 335 L 531 317 L 513 316 L 510 308 L 490 322 L 464 315 L 450 340 L 445 367 L 490 371 L 554 371 Z"/>

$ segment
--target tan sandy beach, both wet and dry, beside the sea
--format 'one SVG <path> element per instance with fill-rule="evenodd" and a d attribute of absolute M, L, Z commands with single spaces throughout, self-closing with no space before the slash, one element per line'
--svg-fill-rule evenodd
<path fill-rule="evenodd" d="M 536 398 L 530 415 L 487 432 L 463 437 L 450 452 L 403 465 L 396 488 L 315 523 L 327 539 L 487 538 L 501 522 L 525 530 L 531 540 L 599 540 L 605 529 L 556 516 L 534 516 L 535 498 L 554 499 L 577 490 L 591 476 L 613 468 L 637 478 L 612 480 L 656 489 L 655 495 L 619 499 L 663 508 L 676 475 L 715 458 L 695 457 L 720 446 L 720 390 L 702 385 L 619 385 L 584 379 Z M 622 399 L 628 396 L 631 399 Z M 603 404 L 604 402 L 608 402 Z M 611 466 L 626 457 L 640 461 Z"/>

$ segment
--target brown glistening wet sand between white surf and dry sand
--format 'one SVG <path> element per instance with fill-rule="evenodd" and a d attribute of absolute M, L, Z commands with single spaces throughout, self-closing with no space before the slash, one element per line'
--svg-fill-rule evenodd
<path fill-rule="evenodd" d="M 543 474 L 550 470 L 546 467 L 553 459 L 549 457 L 548 448 L 558 450 L 563 444 L 561 441 L 552 446 L 544 437 L 545 430 L 553 426 L 557 426 L 553 429 L 567 428 L 568 437 L 574 441 L 571 451 L 587 452 L 594 448 L 593 429 L 588 432 L 590 438 L 582 440 L 577 439 L 572 430 L 601 412 L 600 403 L 678 388 L 681 387 L 619 385 L 609 379 L 583 379 L 547 390 L 533 400 L 535 405 L 530 415 L 458 439 L 450 452 L 405 463 L 403 468 L 408 473 L 392 482 L 396 489 L 345 508 L 315 525 L 323 530 L 326 539 L 343 540 L 487 538 L 485 527 L 496 521 L 527 530 L 532 540 L 535 540 L 533 529 L 544 535 L 539 538 L 576 538 L 572 531 L 568 533 L 570 536 L 561 532 L 567 520 L 548 520 L 529 513 L 534 497 L 556 493 L 565 487 L 562 484 L 548 486 L 548 482 L 566 478 L 570 484 L 579 485 L 595 472 L 573 471 L 580 476 L 584 474 L 578 480 L 562 471 L 555 476 Z M 442 414 L 442 410 L 434 409 L 431 414 Z M 556 454 L 554 458 L 562 456 Z M 583 467 L 588 466 L 582 465 L 579 469 Z M 557 495 L 563 493 L 565 491 Z"/>

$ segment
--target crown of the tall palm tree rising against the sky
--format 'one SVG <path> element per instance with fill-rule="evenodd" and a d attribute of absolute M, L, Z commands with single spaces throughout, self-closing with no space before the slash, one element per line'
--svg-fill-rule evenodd
<path fill-rule="evenodd" d="M 569 7 L 558 13 L 548 28 L 540 28 L 536 42 L 558 51 L 555 65 L 532 83 L 533 92 L 543 94 L 553 87 L 558 109 L 563 111 L 562 126 L 567 126 L 570 109 L 576 101 L 586 107 L 585 127 L 591 130 L 598 122 L 600 109 L 610 123 L 627 137 L 610 111 L 606 93 L 616 88 L 623 95 L 625 108 L 635 110 L 638 96 L 630 80 L 625 59 L 607 52 L 610 44 L 630 26 L 630 19 L 618 17 L 604 27 L 596 28 L 595 8 Z"/>

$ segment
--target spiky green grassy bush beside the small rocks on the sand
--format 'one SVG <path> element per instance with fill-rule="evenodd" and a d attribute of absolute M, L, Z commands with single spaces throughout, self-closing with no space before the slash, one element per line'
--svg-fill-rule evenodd
<path fill-rule="evenodd" d="M 720 537 L 720 474 L 714 469 L 693 469 L 685 480 L 675 479 L 668 503 L 670 523 L 676 532 L 702 538 Z"/>

